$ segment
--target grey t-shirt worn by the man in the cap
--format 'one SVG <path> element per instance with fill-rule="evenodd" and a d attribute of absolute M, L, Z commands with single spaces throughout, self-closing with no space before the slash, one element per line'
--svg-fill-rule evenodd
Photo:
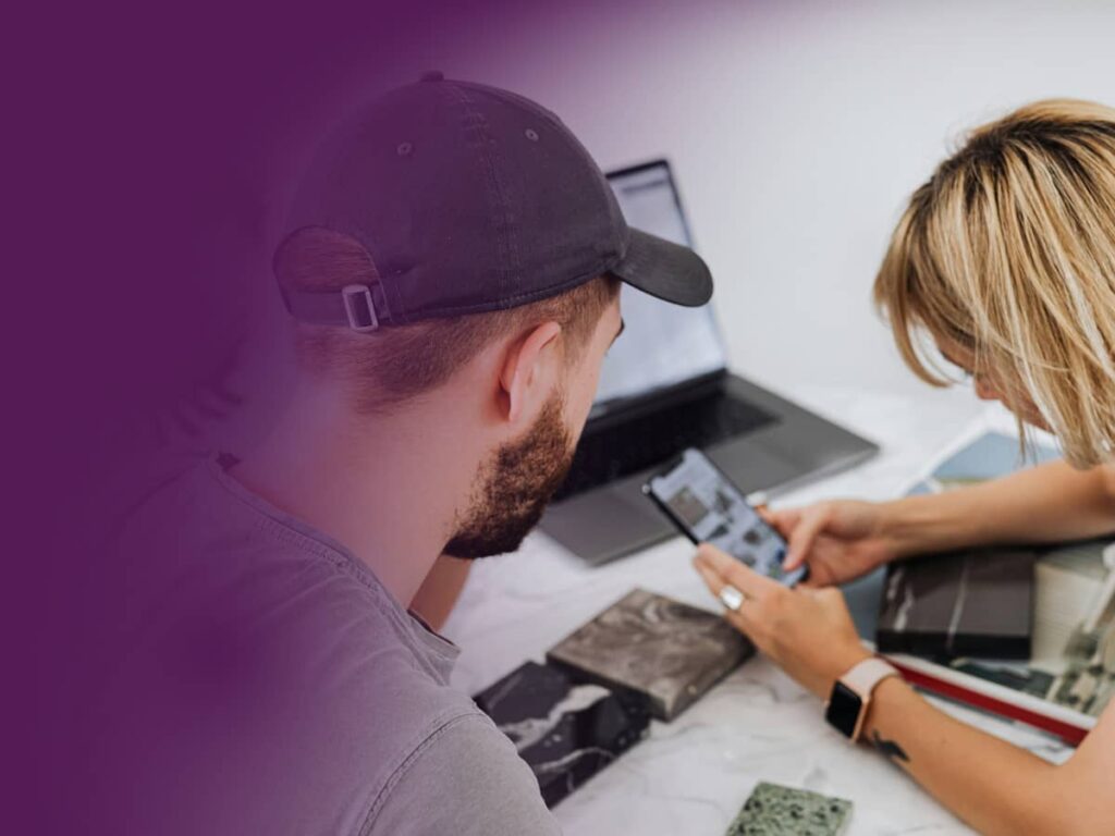
<path fill-rule="evenodd" d="M 457 648 L 217 459 L 151 496 L 122 542 L 106 702 L 135 772 L 129 829 L 558 832 L 515 748 L 449 687 Z"/>

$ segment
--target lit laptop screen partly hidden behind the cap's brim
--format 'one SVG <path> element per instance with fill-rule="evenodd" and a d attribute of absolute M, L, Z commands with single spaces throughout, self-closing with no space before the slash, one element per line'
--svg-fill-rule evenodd
<path fill-rule="evenodd" d="M 690 246 L 689 230 L 666 161 L 608 175 L 629 225 Z M 604 360 L 592 415 L 611 401 L 647 395 L 723 369 L 727 362 L 710 304 L 680 308 L 626 284 L 623 336 Z"/>

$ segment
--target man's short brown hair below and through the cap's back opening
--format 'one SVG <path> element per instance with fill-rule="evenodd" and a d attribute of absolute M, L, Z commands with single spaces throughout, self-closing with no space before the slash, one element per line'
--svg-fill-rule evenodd
<path fill-rule="evenodd" d="M 275 275 L 284 290 L 340 291 L 374 284 L 378 276 L 355 239 L 320 227 L 302 230 L 280 246 Z M 558 322 L 565 359 L 574 362 L 619 294 L 619 280 L 602 275 L 571 291 L 489 313 L 391 325 L 372 333 L 345 327 L 299 324 L 295 347 L 306 369 L 351 383 L 361 412 L 382 412 L 437 388 L 494 340 Z"/>

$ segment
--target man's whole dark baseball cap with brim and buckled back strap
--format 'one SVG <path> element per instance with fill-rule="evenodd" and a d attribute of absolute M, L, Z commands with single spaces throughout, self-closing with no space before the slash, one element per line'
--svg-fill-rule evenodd
<path fill-rule="evenodd" d="M 374 331 L 503 310 L 604 273 L 687 307 L 712 294 L 700 256 L 627 225 L 556 116 L 439 72 L 386 94 L 323 144 L 287 229 L 306 227 L 358 241 L 377 275 L 285 288 L 287 309 L 308 323 Z"/>

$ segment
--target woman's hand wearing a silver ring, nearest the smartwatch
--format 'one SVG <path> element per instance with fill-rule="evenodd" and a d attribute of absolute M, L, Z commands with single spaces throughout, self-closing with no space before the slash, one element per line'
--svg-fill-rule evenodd
<path fill-rule="evenodd" d="M 844 595 L 834 589 L 787 589 L 707 543 L 694 565 L 714 595 L 731 584 L 744 596 L 727 619 L 755 647 L 822 699 L 833 682 L 871 655 L 860 643 Z"/>

